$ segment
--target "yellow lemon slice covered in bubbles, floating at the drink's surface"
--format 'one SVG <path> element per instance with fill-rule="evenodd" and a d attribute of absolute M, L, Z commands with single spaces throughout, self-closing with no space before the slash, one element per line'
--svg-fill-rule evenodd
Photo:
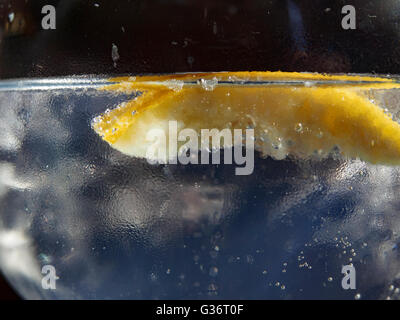
<path fill-rule="evenodd" d="M 96 117 L 93 129 L 120 152 L 146 158 L 153 129 L 254 129 L 264 156 L 326 156 L 400 164 L 400 125 L 364 91 L 393 80 L 285 72 L 218 72 L 112 79 L 103 90 L 141 94 Z"/>

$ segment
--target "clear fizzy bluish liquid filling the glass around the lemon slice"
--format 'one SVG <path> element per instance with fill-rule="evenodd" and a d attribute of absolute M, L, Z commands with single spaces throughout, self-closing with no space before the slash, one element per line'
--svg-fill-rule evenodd
<path fill-rule="evenodd" d="M 397 166 L 260 152 L 248 176 L 151 165 L 92 129 L 135 90 L 46 83 L 0 90 L 0 266 L 23 297 L 399 298 Z M 365 96 L 398 122 L 398 89 Z"/>

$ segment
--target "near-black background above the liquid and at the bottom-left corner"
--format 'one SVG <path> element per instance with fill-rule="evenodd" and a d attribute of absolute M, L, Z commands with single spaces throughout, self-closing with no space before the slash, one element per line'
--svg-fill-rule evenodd
<path fill-rule="evenodd" d="M 56 30 L 41 29 L 46 4 L 56 7 Z M 356 30 L 341 28 L 347 4 L 357 9 Z M 397 74 L 399 18 L 397 0 L 0 0 L 0 78 L 225 70 Z M 120 55 L 116 65 L 112 44 Z M 0 299 L 17 299 L 1 277 Z"/>

